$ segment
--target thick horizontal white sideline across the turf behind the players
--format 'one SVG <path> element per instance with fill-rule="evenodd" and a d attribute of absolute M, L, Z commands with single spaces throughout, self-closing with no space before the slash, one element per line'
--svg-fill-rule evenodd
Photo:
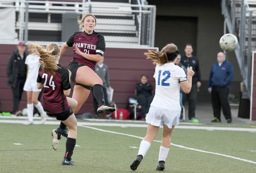
<path fill-rule="evenodd" d="M 41 120 L 41 119 L 40 119 Z M 0 119 L 0 123 L 16 123 L 23 124 L 27 120 L 5 120 Z M 33 124 L 41 124 L 41 121 L 34 121 Z M 45 124 L 60 124 L 60 121 L 48 121 Z M 93 123 L 93 122 L 77 122 L 77 125 L 90 126 L 110 126 L 110 127 L 148 127 L 148 124 L 125 124 L 125 123 Z M 238 128 L 238 127 L 208 127 L 208 126 L 186 126 L 177 125 L 175 129 L 194 129 L 194 130 L 226 130 L 226 131 L 240 131 L 240 132 L 256 132 L 256 128 Z"/>

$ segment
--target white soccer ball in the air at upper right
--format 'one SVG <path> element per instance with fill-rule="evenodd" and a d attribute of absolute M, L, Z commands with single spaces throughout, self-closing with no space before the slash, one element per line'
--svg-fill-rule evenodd
<path fill-rule="evenodd" d="M 229 52 L 236 49 L 237 38 L 233 34 L 225 34 L 220 38 L 220 48 Z"/>

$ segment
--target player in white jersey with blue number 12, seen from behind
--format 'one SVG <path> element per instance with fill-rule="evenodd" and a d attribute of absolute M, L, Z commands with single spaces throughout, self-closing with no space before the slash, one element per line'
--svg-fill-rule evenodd
<path fill-rule="evenodd" d="M 158 165 L 156 170 L 164 170 L 165 159 L 171 146 L 171 135 L 173 128 L 179 124 L 180 118 L 180 86 L 185 93 L 191 89 L 192 67 L 188 70 L 188 79 L 182 68 L 174 65 L 179 50 L 173 43 L 167 44 L 160 52 L 148 50 L 147 59 L 152 59 L 156 65 L 154 78 L 156 79 L 156 94 L 150 104 L 146 117 L 148 123 L 147 134 L 140 143 L 137 158 L 132 162 L 130 168 L 136 170 L 147 153 L 151 142 L 155 139 L 160 126 L 163 126 L 162 143 L 160 146 Z"/>

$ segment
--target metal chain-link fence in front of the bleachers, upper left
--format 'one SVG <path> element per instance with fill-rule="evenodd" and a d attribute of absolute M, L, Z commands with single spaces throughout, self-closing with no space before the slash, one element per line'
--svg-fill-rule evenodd
<path fill-rule="evenodd" d="M 104 35 L 107 47 L 154 47 L 156 6 L 140 1 L 81 1 L 1 0 L 0 43 L 62 44 L 72 33 L 82 31 L 77 18 L 89 12 L 96 16 L 94 30 Z"/>

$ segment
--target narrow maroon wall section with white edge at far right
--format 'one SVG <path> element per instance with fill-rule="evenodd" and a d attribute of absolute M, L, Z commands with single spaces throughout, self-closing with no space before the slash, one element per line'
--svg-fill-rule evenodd
<path fill-rule="evenodd" d="M 253 62 L 253 76 L 252 76 L 252 120 L 256 120 L 256 53 L 254 52 L 253 55 L 254 62 Z"/>

